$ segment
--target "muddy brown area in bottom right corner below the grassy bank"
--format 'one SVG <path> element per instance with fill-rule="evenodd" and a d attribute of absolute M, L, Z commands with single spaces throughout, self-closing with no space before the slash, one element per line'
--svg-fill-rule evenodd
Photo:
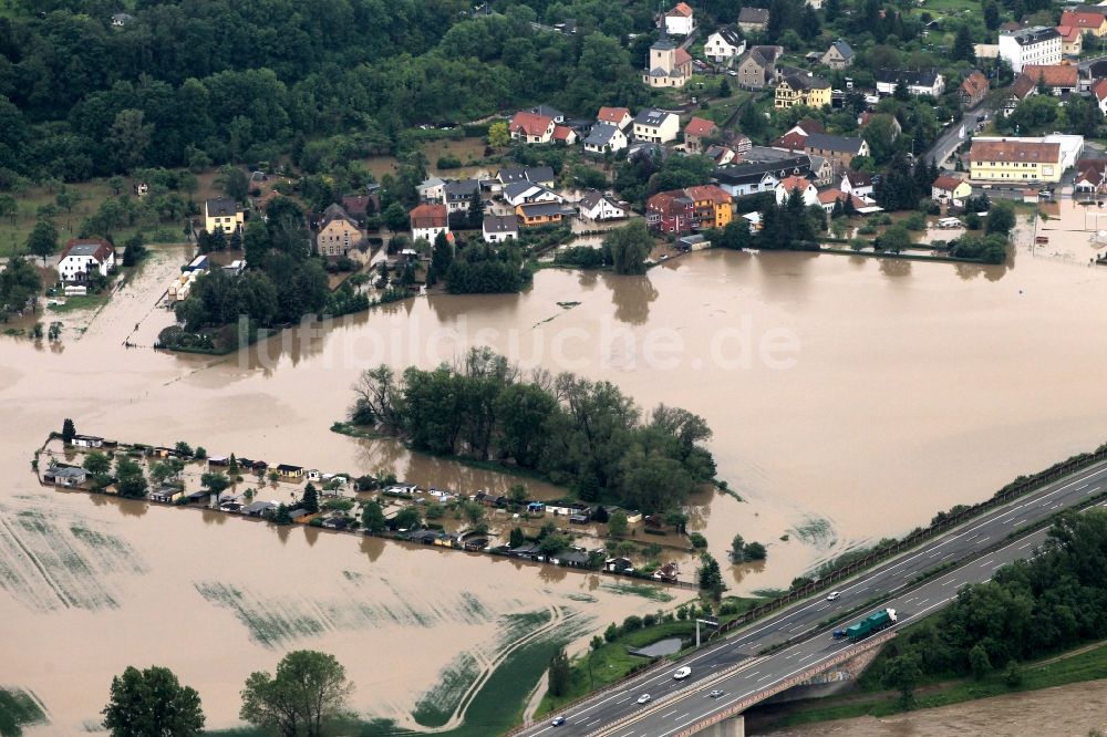
<path fill-rule="evenodd" d="M 1107 731 L 1107 681 L 1044 688 L 891 717 L 858 717 L 764 733 L 765 737 L 1085 737 Z"/>

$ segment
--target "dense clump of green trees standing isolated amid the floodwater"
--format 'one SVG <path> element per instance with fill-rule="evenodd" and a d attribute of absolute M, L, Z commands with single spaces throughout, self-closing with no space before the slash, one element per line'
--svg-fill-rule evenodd
<path fill-rule="evenodd" d="M 659 405 L 643 415 L 610 382 L 521 370 L 488 349 L 455 365 L 386 365 L 362 374 L 350 419 L 416 450 L 536 471 L 587 501 L 652 512 L 682 505 L 712 479 L 704 419 Z"/>

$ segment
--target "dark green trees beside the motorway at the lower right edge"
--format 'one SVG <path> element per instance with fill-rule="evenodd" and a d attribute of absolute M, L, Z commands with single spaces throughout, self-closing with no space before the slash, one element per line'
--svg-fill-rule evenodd
<path fill-rule="evenodd" d="M 923 676 L 972 673 L 1107 637 L 1107 512 L 1066 512 L 1044 551 L 966 587 L 953 604 L 888 644 L 878 662 L 889 687 L 910 692 Z"/>

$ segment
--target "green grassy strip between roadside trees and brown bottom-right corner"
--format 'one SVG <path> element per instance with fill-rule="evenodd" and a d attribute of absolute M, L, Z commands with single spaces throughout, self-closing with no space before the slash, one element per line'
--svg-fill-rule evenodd
<path fill-rule="evenodd" d="M 884 657 L 880 655 L 879 660 Z M 1022 683 L 1010 685 L 1002 669 L 982 679 L 955 678 L 924 682 L 915 692 L 913 708 L 931 708 L 989 698 L 1003 694 L 1037 691 L 1084 681 L 1107 678 L 1107 643 L 1085 645 L 1022 665 Z M 862 676 L 859 689 L 840 696 L 797 702 L 773 709 L 757 719 L 758 730 L 783 729 L 801 724 L 849 719 L 860 716 L 883 717 L 904 710 L 897 692 L 883 691 L 871 676 Z"/>

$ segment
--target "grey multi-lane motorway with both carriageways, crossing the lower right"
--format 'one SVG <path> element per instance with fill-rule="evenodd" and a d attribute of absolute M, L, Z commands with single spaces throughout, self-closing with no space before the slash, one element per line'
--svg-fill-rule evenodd
<path fill-rule="evenodd" d="M 534 737 L 684 737 L 707 734 L 741 735 L 745 709 L 811 676 L 882 644 L 904 624 L 933 613 L 968 583 L 981 583 L 993 572 L 1021 558 L 1030 558 L 1046 537 L 1037 530 L 1007 540 L 1013 532 L 1107 490 L 1107 463 L 1099 463 L 1058 481 L 996 507 L 918 548 L 842 582 L 841 598 L 825 594 L 796 603 L 773 616 L 755 621 L 734 636 L 708 644 L 677 663 L 663 663 L 601 691 L 560 713 L 566 724 L 550 719 L 525 725 L 514 734 Z M 920 574 L 943 564 L 958 568 L 911 585 Z M 877 596 L 894 594 L 865 608 Z M 891 608 L 898 623 L 891 630 L 859 643 L 836 641 L 831 633 L 870 613 Z M 831 617 L 847 620 L 834 626 Z M 766 655 L 758 655 L 777 646 Z M 680 666 L 692 674 L 674 679 Z M 711 692 L 722 695 L 711 696 Z M 639 703 L 643 694 L 648 703 Z M 551 715 L 552 716 L 552 715 Z"/>

